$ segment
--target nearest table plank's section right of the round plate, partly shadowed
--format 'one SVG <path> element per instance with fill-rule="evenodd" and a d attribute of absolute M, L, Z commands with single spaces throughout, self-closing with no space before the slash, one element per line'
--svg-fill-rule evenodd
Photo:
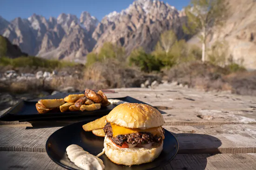
<path fill-rule="evenodd" d="M 178 154 L 162 170 L 255 170 L 256 154 Z"/>

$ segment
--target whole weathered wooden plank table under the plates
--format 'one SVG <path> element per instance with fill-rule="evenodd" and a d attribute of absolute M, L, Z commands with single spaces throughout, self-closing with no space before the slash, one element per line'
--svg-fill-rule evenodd
<path fill-rule="evenodd" d="M 113 90 L 116 93 L 108 97 L 129 95 L 161 109 L 164 128 L 179 142 L 177 156 L 164 170 L 256 170 L 256 97 L 168 84 Z M 0 124 L 1 170 L 63 169 L 45 150 L 47 138 L 61 127 L 34 128 L 17 121 Z"/>

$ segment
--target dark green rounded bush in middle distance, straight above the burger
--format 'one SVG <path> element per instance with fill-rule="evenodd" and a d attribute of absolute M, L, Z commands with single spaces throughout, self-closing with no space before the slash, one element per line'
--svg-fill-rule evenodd
<path fill-rule="evenodd" d="M 128 60 L 130 65 L 134 64 L 144 72 L 159 71 L 163 67 L 159 59 L 152 54 L 147 54 L 141 48 L 133 50 Z"/>

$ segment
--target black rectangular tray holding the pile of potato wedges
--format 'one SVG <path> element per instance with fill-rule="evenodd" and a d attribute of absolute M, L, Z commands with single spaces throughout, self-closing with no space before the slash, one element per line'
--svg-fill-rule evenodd
<path fill-rule="evenodd" d="M 67 94 L 65 94 L 67 96 Z M 50 98 L 61 99 L 63 96 L 51 96 Z M 49 97 L 48 97 L 49 99 Z M 127 101 L 130 103 L 144 103 L 135 98 L 126 96 L 122 98 L 109 98 L 109 99 L 118 99 L 121 101 Z M 107 115 L 116 105 L 109 105 L 108 107 L 102 107 L 99 110 L 94 111 L 77 111 L 77 112 L 48 112 L 44 114 L 38 113 L 36 110 L 35 104 L 37 101 L 20 101 L 18 104 L 7 110 L 6 113 L 0 116 L 1 121 L 35 121 L 35 120 L 49 120 L 53 118 L 70 118 L 70 117 L 91 117 L 91 116 L 102 116 Z M 147 104 L 147 103 L 144 103 Z"/>

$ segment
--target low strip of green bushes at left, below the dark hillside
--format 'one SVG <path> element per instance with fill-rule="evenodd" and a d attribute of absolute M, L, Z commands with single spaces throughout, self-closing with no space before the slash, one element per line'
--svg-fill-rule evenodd
<path fill-rule="evenodd" d="M 55 69 L 55 68 L 74 66 L 75 63 L 58 61 L 58 60 L 47 60 L 44 58 L 29 56 L 29 57 L 17 57 L 13 59 L 8 57 L 0 57 L 0 65 L 2 66 L 11 65 L 14 68 L 29 66 L 29 67 Z"/>

